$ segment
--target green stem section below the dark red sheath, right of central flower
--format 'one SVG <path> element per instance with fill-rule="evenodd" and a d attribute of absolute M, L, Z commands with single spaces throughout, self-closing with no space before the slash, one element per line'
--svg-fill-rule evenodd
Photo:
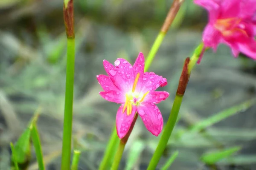
<path fill-rule="evenodd" d="M 175 126 L 178 113 L 180 111 L 180 105 L 181 105 L 182 99 L 183 99 L 183 96 L 177 96 L 177 95 L 175 96 L 168 122 L 163 130 L 163 135 L 161 136 L 157 149 L 155 150 L 154 155 L 151 158 L 151 161 L 148 165 L 147 170 L 155 170 L 157 167 L 157 164 L 163 154 L 163 151 L 166 148 L 169 137 L 171 136 L 172 130 Z"/>

